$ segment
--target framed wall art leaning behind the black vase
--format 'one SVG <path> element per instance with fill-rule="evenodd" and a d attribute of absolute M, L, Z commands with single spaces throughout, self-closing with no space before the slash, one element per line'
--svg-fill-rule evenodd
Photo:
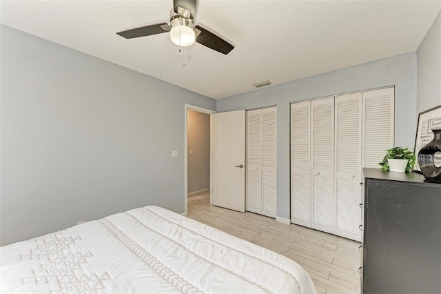
<path fill-rule="evenodd" d="M 417 158 L 420 149 L 433 139 L 432 129 L 434 128 L 441 128 L 441 105 L 420 112 L 420 115 L 418 115 L 418 125 L 416 128 L 415 149 L 414 149 L 414 153 Z M 441 163 L 441 156 L 435 155 L 435 161 L 439 161 Z M 413 171 L 417 173 L 421 173 L 421 169 L 420 166 L 418 165 L 418 161 L 413 167 Z"/>

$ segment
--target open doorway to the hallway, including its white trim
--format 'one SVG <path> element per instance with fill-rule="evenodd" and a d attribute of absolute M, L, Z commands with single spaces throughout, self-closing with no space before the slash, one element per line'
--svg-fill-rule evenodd
<path fill-rule="evenodd" d="M 211 203 L 211 117 L 214 110 L 185 104 L 185 212 L 187 197 L 209 192 Z"/>

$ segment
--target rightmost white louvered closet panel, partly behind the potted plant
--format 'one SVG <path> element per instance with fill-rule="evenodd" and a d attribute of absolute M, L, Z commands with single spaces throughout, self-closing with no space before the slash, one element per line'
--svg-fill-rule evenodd
<path fill-rule="evenodd" d="M 393 148 L 394 96 L 395 88 L 362 93 L 364 168 L 380 168 L 385 150 Z"/>

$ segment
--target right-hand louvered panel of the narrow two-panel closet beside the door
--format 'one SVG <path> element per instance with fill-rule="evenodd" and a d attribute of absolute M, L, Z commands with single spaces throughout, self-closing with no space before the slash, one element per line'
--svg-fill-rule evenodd
<path fill-rule="evenodd" d="M 277 108 L 262 109 L 262 214 L 276 217 Z"/>

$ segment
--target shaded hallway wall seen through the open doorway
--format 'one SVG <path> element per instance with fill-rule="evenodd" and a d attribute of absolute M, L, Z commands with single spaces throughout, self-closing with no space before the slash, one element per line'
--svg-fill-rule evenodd
<path fill-rule="evenodd" d="M 209 117 L 187 110 L 188 193 L 209 188 Z M 193 154 L 190 155 L 190 150 Z"/>

